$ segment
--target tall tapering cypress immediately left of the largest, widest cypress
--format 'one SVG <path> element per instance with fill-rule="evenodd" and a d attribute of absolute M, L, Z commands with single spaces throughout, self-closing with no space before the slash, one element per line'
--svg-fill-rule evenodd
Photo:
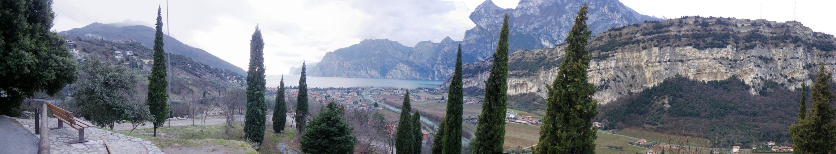
<path fill-rule="evenodd" d="M 502 152 L 505 142 L 505 109 L 508 89 L 508 13 L 502 19 L 497 52 L 493 52 L 491 75 L 485 81 L 485 100 L 471 148 L 475 154 Z M 450 98 L 453 101 L 453 98 Z"/>

